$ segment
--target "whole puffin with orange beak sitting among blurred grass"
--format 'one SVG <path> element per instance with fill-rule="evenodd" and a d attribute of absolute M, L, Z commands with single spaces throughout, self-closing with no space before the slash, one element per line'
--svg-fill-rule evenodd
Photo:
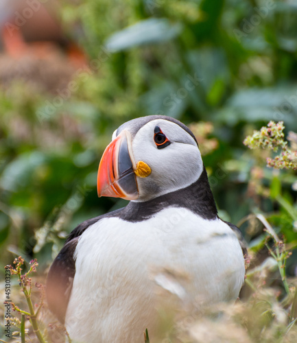
<path fill-rule="evenodd" d="M 77 226 L 47 276 L 49 309 L 72 340 L 143 342 L 167 294 L 198 309 L 237 299 L 246 248 L 239 229 L 218 216 L 184 123 L 152 115 L 119 126 L 97 191 L 130 202 Z"/>

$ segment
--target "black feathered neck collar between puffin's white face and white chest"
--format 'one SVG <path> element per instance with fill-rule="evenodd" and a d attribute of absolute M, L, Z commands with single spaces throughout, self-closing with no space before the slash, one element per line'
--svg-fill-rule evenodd
<path fill-rule="evenodd" d="M 121 212 L 121 217 L 129 222 L 138 222 L 149 219 L 167 207 L 189 209 L 206 220 L 217 218 L 217 207 L 205 167 L 198 180 L 192 185 L 146 202 L 129 202 L 128 206 Z"/>

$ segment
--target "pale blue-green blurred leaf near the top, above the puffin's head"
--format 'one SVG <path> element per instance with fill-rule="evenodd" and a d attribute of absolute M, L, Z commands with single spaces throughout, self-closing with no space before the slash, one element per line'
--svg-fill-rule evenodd
<path fill-rule="evenodd" d="M 162 43 L 180 34 L 182 25 L 167 19 L 146 19 L 113 34 L 106 42 L 111 51 L 121 51 L 139 45 Z"/>

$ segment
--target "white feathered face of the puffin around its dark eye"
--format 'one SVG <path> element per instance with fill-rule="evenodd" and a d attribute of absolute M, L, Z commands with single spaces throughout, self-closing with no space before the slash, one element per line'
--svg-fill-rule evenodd
<path fill-rule="evenodd" d="M 158 149 L 154 128 L 159 126 L 170 145 Z M 144 201 L 188 187 L 198 180 L 203 163 L 197 143 L 178 124 L 156 119 L 143 126 L 132 141 L 135 162 L 143 161 L 152 169 L 145 179 L 137 178 L 139 200 Z"/>

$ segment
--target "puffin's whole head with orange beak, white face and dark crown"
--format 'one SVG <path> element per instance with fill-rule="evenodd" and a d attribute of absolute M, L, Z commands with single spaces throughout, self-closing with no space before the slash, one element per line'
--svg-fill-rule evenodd
<path fill-rule="evenodd" d="M 193 133 L 176 119 L 132 119 L 112 134 L 99 164 L 98 196 L 146 201 L 193 184 L 203 163 Z"/>

